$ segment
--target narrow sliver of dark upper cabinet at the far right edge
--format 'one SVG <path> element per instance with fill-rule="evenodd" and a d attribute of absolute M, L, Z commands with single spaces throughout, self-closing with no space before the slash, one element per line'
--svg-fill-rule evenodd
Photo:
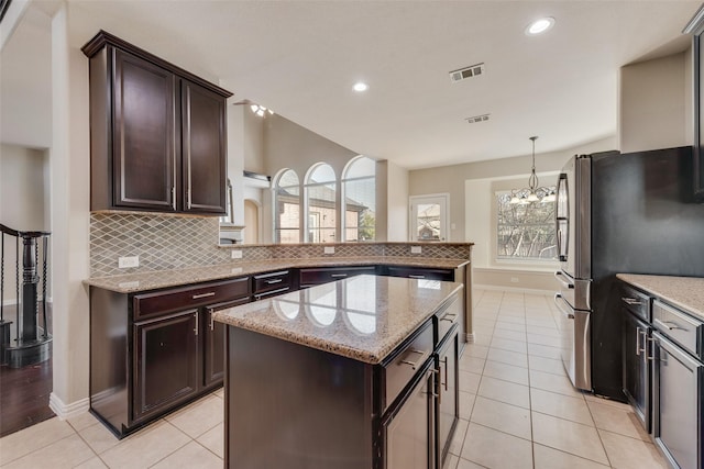
<path fill-rule="evenodd" d="M 694 199 L 704 203 L 704 5 L 694 14 L 684 27 L 684 33 L 692 34 L 692 85 L 694 88 Z"/>

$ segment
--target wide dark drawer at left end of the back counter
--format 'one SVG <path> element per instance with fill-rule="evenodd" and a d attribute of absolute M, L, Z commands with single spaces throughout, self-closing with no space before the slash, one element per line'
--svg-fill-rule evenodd
<path fill-rule="evenodd" d="M 133 299 L 134 321 L 187 308 L 222 303 L 224 301 L 249 297 L 249 277 L 206 283 L 199 287 L 186 287 L 154 293 L 136 294 Z"/>

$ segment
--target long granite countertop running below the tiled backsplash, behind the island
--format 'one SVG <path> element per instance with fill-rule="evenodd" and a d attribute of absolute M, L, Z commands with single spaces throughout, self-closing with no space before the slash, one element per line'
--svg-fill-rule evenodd
<path fill-rule="evenodd" d="M 84 283 L 92 287 L 99 287 L 105 290 L 116 291 L 118 293 L 133 293 L 138 291 L 199 283 L 209 280 L 250 276 L 278 269 L 377 265 L 457 269 L 458 267 L 462 267 L 466 264 L 469 264 L 468 259 L 392 256 L 266 259 L 194 267 L 188 269 L 157 270 L 153 272 L 128 273 L 112 277 L 95 277 L 84 280 Z"/>

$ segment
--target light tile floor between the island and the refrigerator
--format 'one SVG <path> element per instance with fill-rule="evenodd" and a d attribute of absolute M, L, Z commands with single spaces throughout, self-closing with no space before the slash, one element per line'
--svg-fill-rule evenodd
<path fill-rule="evenodd" d="M 551 297 L 475 290 L 474 305 L 444 469 L 668 467 L 630 406 L 572 387 Z"/>

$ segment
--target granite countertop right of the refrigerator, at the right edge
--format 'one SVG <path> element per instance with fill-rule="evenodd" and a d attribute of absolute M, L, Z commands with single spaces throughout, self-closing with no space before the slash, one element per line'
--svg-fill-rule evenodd
<path fill-rule="evenodd" d="M 618 273 L 617 278 L 704 320 L 704 278 Z"/>

